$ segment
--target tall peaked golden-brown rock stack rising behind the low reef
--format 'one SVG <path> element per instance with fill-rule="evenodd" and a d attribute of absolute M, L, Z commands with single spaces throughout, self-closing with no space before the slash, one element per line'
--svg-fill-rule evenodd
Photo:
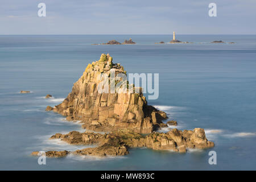
<path fill-rule="evenodd" d="M 151 133 L 159 127 L 167 126 L 162 123 L 166 113 L 147 105 L 142 89 L 139 93 L 108 93 L 98 92 L 98 86 L 105 73 L 108 77 L 114 72 L 126 75 L 120 64 L 114 64 L 112 57 L 102 54 L 100 60 L 88 64 L 84 73 L 73 85 L 72 92 L 65 100 L 54 108 L 47 106 L 46 110 L 53 110 L 67 117 L 68 120 L 80 120 L 85 129 L 93 131 L 113 131 L 117 129 L 132 129 L 138 133 Z M 114 80 L 115 85 L 122 80 Z M 137 90 L 127 84 L 127 92 Z"/>

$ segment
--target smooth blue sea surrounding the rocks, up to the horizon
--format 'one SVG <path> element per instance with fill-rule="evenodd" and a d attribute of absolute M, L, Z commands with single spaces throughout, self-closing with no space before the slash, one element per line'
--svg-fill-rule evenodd
<path fill-rule="evenodd" d="M 101 45 L 133 38 L 136 45 Z M 256 35 L 0 36 L 0 169 L 216 170 L 256 169 Z M 236 44 L 210 44 L 213 40 Z M 159 73 L 159 98 L 149 100 L 178 122 L 177 129 L 203 127 L 216 146 L 186 154 L 130 150 L 117 158 L 68 156 L 39 165 L 35 150 L 76 150 L 48 140 L 55 133 L 83 131 L 79 123 L 46 112 L 71 92 L 86 65 L 109 53 L 127 73 Z M 30 94 L 19 94 L 31 90 Z M 46 94 L 55 98 L 46 100 Z M 218 133 L 213 133 L 217 130 Z M 208 152 L 217 152 L 217 165 Z"/>

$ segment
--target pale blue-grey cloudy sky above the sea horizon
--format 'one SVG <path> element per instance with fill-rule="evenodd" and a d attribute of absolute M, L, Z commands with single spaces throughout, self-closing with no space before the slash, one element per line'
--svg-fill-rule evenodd
<path fill-rule="evenodd" d="M 212 2 L 216 17 L 208 15 Z M 255 22 L 256 0 L 0 1 L 0 35 L 256 34 Z"/>

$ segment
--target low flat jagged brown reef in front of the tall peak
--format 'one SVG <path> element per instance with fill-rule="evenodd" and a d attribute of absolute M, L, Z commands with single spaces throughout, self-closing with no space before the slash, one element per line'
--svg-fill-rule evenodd
<path fill-rule="evenodd" d="M 67 154 L 77 155 L 126 155 L 130 147 L 147 147 L 153 150 L 171 150 L 186 152 L 187 148 L 210 148 L 214 146 L 205 137 L 204 129 L 180 131 L 173 129 L 167 133 L 154 132 L 149 135 L 141 135 L 132 130 L 118 130 L 109 134 L 99 134 L 86 131 L 79 133 L 71 131 L 68 134 L 55 134 L 50 139 L 61 139 L 69 144 L 97 144 L 97 147 L 84 148 L 76 151 L 48 151 L 46 156 L 61 157 Z M 38 152 L 32 152 L 38 155 Z"/>

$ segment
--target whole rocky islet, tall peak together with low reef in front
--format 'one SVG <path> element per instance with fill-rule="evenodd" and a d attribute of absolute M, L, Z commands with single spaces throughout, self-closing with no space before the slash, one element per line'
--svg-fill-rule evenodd
<path fill-rule="evenodd" d="M 110 55 L 102 54 L 100 60 L 88 64 L 84 73 L 73 85 L 72 92 L 65 100 L 55 106 L 47 106 L 47 111 L 64 115 L 68 121 L 81 121 L 84 133 L 71 131 L 68 134 L 57 133 L 50 139 L 60 139 L 69 144 L 96 147 L 76 151 L 47 151 L 48 157 L 63 157 L 68 154 L 117 156 L 129 154 L 129 148 L 147 147 L 152 150 L 171 150 L 186 152 L 187 148 L 210 148 L 204 129 L 172 129 L 159 133 L 158 129 L 168 125 L 177 125 L 176 121 L 163 123 L 167 114 L 147 104 L 142 92 L 139 93 L 99 93 L 98 84 L 101 73 L 110 75 L 110 69 L 126 74 L 120 64 L 113 63 Z M 133 85 L 132 85 L 133 86 Z M 133 86 L 133 89 L 135 87 Z M 142 89 L 139 89 L 142 90 Z M 95 131 L 95 132 L 92 132 Z M 105 134 L 97 133 L 98 131 Z M 39 151 L 32 152 L 39 155 Z"/>

